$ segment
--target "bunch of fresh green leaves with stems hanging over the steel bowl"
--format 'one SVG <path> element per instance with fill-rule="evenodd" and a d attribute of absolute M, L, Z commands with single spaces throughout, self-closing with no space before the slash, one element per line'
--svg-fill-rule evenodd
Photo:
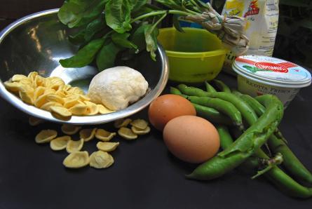
<path fill-rule="evenodd" d="M 132 58 L 147 50 L 156 60 L 158 24 L 167 14 L 201 15 L 205 5 L 198 0 L 67 0 L 58 18 L 77 33 L 69 41 L 80 49 L 72 58 L 60 60 L 63 67 L 84 67 L 96 59 L 100 70 L 112 67 L 116 55 Z M 162 5 L 169 10 L 163 10 Z M 199 13 L 198 13 L 199 12 Z M 182 32 L 177 19 L 174 26 Z M 125 56 L 126 55 L 126 56 Z"/>

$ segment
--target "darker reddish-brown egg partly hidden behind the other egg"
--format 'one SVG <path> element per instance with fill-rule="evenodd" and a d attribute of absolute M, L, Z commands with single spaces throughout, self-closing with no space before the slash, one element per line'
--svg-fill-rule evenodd
<path fill-rule="evenodd" d="M 196 110 L 189 100 L 179 95 L 161 95 L 149 105 L 149 121 L 158 130 L 163 130 L 171 119 L 184 115 L 196 116 Z"/>

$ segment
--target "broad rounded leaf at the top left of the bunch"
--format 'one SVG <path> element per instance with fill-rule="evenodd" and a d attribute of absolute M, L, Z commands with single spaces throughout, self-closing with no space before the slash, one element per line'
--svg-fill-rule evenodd
<path fill-rule="evenodd" d="M 104 11 L 108 0 L 69 0 L 57 13 L 60 21 L 69 28 L 88 25 Z"/>

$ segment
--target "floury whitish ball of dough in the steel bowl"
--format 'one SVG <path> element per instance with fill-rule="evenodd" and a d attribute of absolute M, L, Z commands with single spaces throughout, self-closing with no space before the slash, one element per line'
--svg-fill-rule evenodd
<path fill-rule="evenodd" d="M 140 72 L 130 67 L 105 69 L 92 79 L 88 96 L 92 102 L 104 104 L 111 110 L 128 107 L 146 92 L 149 83 Z"/>

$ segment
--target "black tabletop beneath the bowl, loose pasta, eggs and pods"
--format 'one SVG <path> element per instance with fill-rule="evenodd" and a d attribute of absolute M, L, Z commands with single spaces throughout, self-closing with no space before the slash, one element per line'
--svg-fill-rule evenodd
<path fill-rule="evenodd" d="M 235 79 L 221 75 L 235 86 Z M 312 87 L 304 88 L 285 111 L 280 130 L 301 161 L 312 170 Z M 312 199 L 285 196 L 263 178 L 236 170 L 209 182 L 186 180 L 193 165 L 168 153 L 162 135 L 149 135 L 112 152 L 107 169 L 69 170 L 62 166 L 66 151 L 52 151 L 34 142 L 45 123 L 33 128 L 28 116 L 0 99 L 0 208 L 311 208 Z M 147 119 L 147 109 L 133 119 Z M 115 130 L 112 124 L 97 126 Z M 95 151 L 96 140 L 84 149 Z"/>

